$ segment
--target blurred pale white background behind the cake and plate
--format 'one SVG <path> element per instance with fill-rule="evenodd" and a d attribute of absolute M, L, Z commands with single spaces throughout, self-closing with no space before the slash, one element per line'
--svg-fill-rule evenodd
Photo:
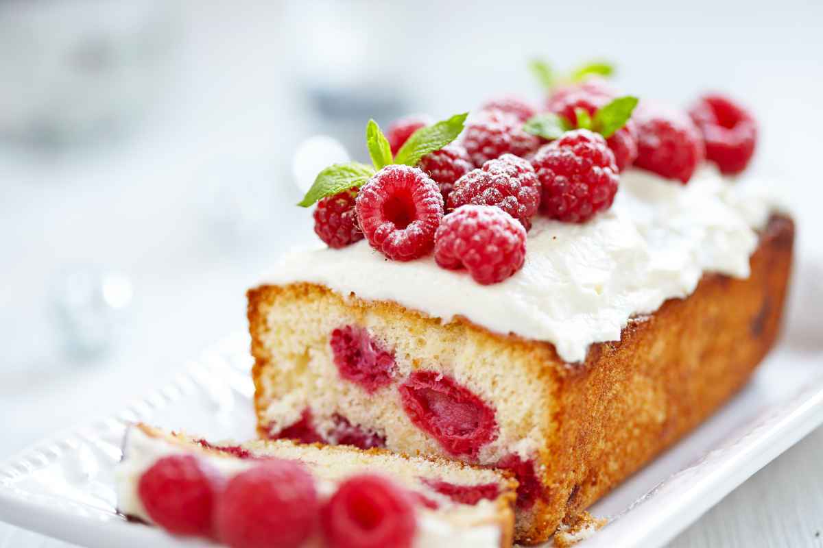
<path fill-rule="evenodd" d="M 742 99 L 819 267 L 823 2 L 0 0 L 0 458 L 245 328 L 244 290 L 314 238 L 306 139 L 362 158 L 369 117 L 537 103 L 536 56 Z"/>

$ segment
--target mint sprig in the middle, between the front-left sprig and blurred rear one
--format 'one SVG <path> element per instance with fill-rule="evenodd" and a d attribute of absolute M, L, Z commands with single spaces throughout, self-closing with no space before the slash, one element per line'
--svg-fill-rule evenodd
<path fill-rule="evenodd" d="M 575 108 L 574 115 L 577 118 L 574 123 L 555 113 L 537 114 L 531 117 L 523 125 L 523 131 L 532 135 L 540 136 L 547 140 L 560 139 L 566 131 L 577 128 L 597 131 L 604 138 L 608 139 L 626 122 L 629 122 L 631 113 L 635 111 L 638 99 L 632 95 L 612 99 L 608 104 L 598 108 L 594 116 L 589 116 L 585 108 Z"/>

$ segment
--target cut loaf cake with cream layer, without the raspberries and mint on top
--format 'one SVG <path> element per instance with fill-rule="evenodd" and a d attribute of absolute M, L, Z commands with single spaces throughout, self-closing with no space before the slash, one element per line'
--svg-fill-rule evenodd
<path fill-rule="evenodd" d="M 509 469 L 515 540 L 546 541 L 741 389 L 783 312 L 791 219 L 709 168 L 620 184 L 492 286 L 363 241 L 282 260 L 248 293 L 260 435 Z"/>

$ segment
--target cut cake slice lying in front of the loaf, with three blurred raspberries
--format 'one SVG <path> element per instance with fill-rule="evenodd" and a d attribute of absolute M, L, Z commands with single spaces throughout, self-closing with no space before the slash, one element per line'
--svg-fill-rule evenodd
<path fill-rule="evenodd" d="M 509 548 L 517 481 L 444 458 L 287 440 L 214 444 L 137 424 L 118 510 L 231 548 Z"/>

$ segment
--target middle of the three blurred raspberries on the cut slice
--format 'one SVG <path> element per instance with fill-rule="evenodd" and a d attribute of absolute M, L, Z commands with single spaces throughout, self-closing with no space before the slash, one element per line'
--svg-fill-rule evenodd
<path fill-rule="evenodd" d="M 304 467 L 271 459 L 230 479 L 217 500 L 215 527 L 231 548 L 297 548 L 314 532 L 319 506 Z"/>

